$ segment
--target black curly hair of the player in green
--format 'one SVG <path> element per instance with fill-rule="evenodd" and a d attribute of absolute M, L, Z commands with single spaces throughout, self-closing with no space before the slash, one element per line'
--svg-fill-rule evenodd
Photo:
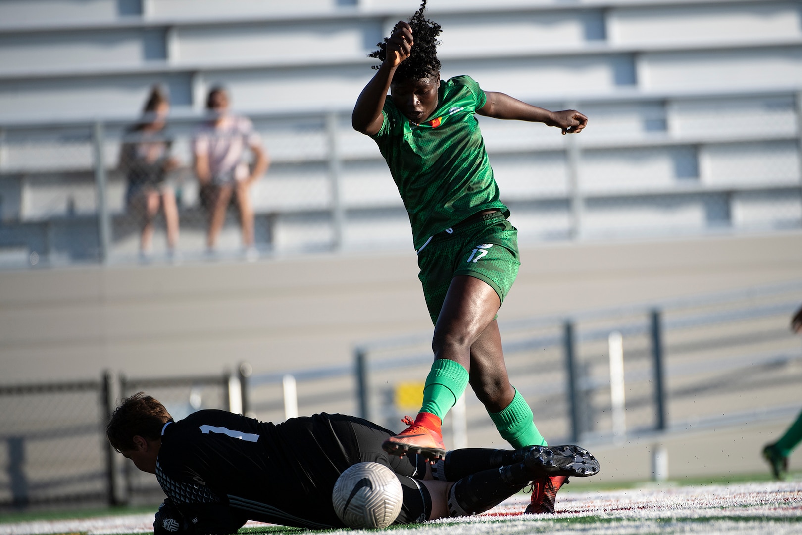
<path fill-rule="evenodd" d="M 437 45 L 440 42 L 437 36 L 442 30 L 437 22 L 423 17 L 426 2 L 427 0 L 423 0 L 420 8 L 409 19 L 409 25 L 412 27 L 412 39 L 415 40 L 415 44 L 412 45 L 409 57 L 401 62 L 398 69 L 396 69 L 393 79 L 419 80 L 436 75 L 440 71 L 440 60 L 437 59 Z M 397 24 L 393 26 L 390 34 L 396 29 L 398 29 Z M 382 62 L 387 59 L 388 40 L 389 38 L 385 37 L 383 43 L 377 43 L 379 50 L 371 52 L 369 56 Z M 373 68 L 378 69 L 379 67 L 374 66 Z"/>

